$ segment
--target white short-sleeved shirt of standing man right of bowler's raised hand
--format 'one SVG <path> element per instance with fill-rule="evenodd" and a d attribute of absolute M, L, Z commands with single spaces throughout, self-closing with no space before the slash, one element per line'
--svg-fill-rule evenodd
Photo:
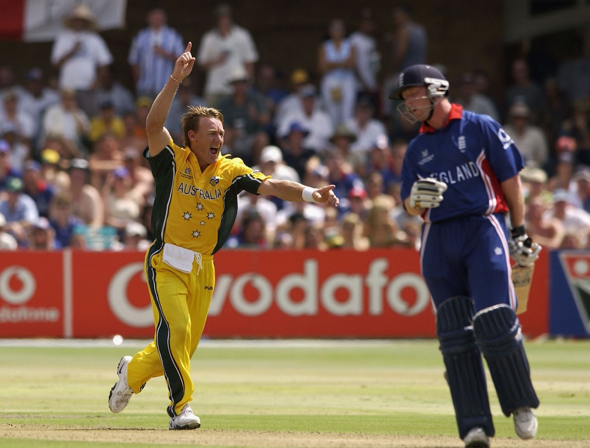
<path fill-rule="evenodd" d="M 196 61 L 198 64 L 205 64 L 224 52 L 227 52 L 225 61 L 209 68 L 207 72 L 205 95 L 230 94 L 231 86 L 227 83 L 230 74 L 245 63 L 258 60 L 258 52 L 250 32 L 238 25 L 232 25 L 227 37 L 223 37 L 217 28 L 208 31 L 201 39 Z"/>

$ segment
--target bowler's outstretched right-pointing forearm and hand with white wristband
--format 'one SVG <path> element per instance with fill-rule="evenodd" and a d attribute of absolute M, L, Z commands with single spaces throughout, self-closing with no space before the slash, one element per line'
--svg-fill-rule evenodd
<path fill-rule="evenodd" d="M 258 187 L 259 195 L 273 195 L 289 202 L 325 202 L 327 205 L 338 206 L 340 200 L 332 191 L 335 185 L 314 189 L 292 180 L 266 179 Z"/>

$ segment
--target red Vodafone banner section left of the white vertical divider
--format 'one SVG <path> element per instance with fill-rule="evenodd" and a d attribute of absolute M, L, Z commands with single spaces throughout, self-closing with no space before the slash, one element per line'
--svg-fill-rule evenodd
<path fill-rule="evenodd" d="M 64 334 L 61 252 L 4 252 L 0 257 L 0 337 Z"/>

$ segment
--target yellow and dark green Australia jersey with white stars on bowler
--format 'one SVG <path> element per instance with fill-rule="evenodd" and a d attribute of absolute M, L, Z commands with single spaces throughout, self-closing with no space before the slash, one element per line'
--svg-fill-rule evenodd
<path fill-rule="evenodd" d="M 270 178 L 254 172 L 241 159 L 219 156 L 201 173 L 192 151 L 173 143 L 157 156 L 143 150 L 156 180 L 152 235 L 156 242 L 172 243 L 203 255 L 213 255 L 230 235 L 238 211 L 238 193 L 258 194 Z"/>

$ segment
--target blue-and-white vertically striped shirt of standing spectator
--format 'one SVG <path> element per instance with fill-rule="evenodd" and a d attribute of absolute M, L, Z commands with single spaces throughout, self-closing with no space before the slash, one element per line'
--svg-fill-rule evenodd
<path fill-rule="evenodd" d="M 158 31 L 148 27 L 137 33 L 129 50 L 129 64 L 139 65 L 138 92 L 158 94 L 172 74 L 174 61 L 156 54 L 156 45 L 178 56 L 185 50 L 181 35 L 167 25 Z"/>

